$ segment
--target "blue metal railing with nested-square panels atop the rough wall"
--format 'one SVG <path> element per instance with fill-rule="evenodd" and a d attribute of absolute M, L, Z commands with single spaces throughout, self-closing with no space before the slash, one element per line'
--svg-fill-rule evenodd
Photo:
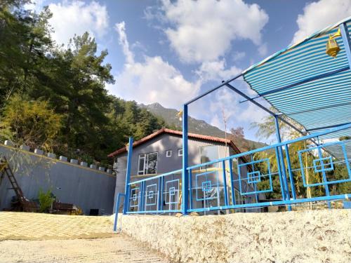
<path fill-rule="evenodd" d="M 320 137 L 337 135 L 342 130 L 351 131 L 351 124 L 187 167 L 186 188 L 183 169 L 135 182 L 127 178 L 124 209 L 126 214 L 221 213 L 230 209 L 258 211 L 269 205 L 289 208 L 304 202 L 351 198 L 351 193 L 329 191 L 331 184 L 351 182 L 348 158 L 351 140 L 334 140 L 318 146 L 306 143 L 307 147 L 301 148 L 301 142 L 313 139 L 319 142 Z M 131 151 L 130 147 L 129 158 Z M 314 189 L 317 194 L 298 195 L 298 182 L 302 188 Z M 274 195 L 274 200 L 267 201 L 265 194 Z M 184 200 L 188 200 L 186 205 Z"/>

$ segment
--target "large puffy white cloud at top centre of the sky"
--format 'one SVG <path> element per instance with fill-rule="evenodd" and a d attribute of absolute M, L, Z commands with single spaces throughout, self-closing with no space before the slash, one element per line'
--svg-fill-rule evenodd
<path fill-rule="evenodd" d="M 190 63 L 218 60 L 234 39 L 259 45 L 268 21 L 260 6 L 241 0 L 164 0 L 163 4 L 163 20 L 171 24 L 164 32 L 180 60 Z M 154 17 L 159 16 L 149 12 L 147 18 Z"/>

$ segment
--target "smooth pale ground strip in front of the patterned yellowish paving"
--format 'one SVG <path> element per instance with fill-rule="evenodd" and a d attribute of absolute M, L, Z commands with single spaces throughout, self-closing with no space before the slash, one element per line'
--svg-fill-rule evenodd
<path fill-rule="evenodd" d="M 167 262 L 128 236 L 44 241 L 1 241 L 0 262 Z"/>

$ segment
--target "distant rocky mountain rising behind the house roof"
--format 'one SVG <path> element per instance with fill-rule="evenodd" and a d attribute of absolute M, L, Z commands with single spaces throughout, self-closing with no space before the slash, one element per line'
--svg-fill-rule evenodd
<path fill-rule="evenodd" d="M 178 111 L 176 109 L 167 109 L 157 102 L 149 105 L 139 104 L 139 107 L 145 108 L 155 116 L 161 117 L 169 127 L 176 130 L 182 130 L 182 122 L 177 116 Z M 210 124 L 206 123 L 206 121 L 189 117 L 188 126 L 190 133 L 198 133 L 221 138 L 225 137 L 225 132 L 223 130 L 220 130 L 216 126 L 211 126 Z M 237 147 L 241 149 L 241 151 L 248 151 L 250 149 L 257 149 L 266 146 L 266 144 L 262 142 L 255 142 L 247 139 L 235 140 L 234 142 L 237 144 Z"/>

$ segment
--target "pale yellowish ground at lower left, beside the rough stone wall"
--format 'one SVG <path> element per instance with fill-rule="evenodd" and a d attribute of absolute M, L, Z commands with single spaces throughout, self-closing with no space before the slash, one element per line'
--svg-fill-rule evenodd
<path fill-rule="evenodd" d="M 0 212 L 0 263 L 168 262 L 108 217 Z"/>

